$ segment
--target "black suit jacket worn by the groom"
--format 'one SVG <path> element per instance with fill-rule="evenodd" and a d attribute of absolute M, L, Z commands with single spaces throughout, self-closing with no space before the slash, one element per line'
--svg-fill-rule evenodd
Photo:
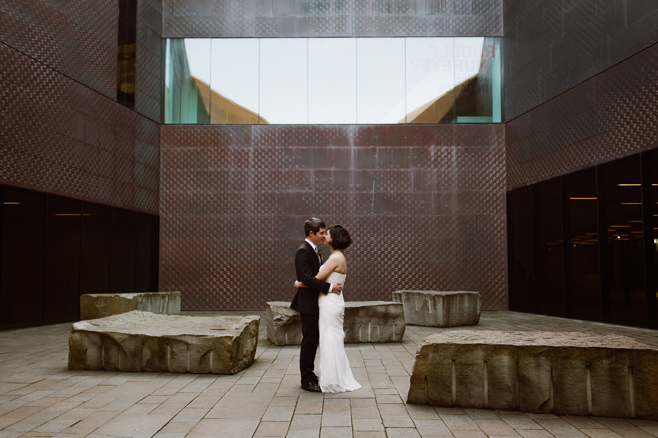
<path fill-rule="evenodd" d="M 299 288 L 297 294 L 292 299 L 290 308 L 299 313 L 320 313 L 318 307 L 318 294 L 327 294 L 330 284 L 318 280 L 315 276 L 320 271 L 321 261 L 311 247 L 311 244 L 304 240 L 297 253 L 295 254 L 295 271 L 297 271 L 297 281 L 301 281 L 307 288 Z"/>

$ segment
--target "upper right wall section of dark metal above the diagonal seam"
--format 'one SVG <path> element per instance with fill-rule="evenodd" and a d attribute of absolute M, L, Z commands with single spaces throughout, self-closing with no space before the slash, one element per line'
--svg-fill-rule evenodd
<path fill-rule="evenodd" d="M 507 120 L 658 42 L 655 3 L 505 0 L 503 11 Z"/>

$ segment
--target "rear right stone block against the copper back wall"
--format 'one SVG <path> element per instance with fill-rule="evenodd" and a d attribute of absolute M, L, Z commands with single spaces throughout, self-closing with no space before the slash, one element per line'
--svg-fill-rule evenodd
<path fill-rule="evenodd" d="M 417 326 L 474 326 L 482 311 L 480 294 L 461 290 L 396 290 L 393 301 L 404 304 L 407 324 Z"/>

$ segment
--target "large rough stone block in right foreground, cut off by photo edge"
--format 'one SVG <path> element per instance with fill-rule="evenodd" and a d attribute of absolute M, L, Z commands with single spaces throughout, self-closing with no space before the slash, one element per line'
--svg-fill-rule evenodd
<path fill-rule="evenodd" d="M 658 349 L 620 335 L 455 330 L 416 351 L 407 403 L 658 419 Z"/>

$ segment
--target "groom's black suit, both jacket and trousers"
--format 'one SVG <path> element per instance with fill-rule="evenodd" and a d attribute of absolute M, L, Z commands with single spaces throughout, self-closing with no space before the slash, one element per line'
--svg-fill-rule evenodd
<path fill-rule="evenodd" d="M 320 341 L 318 294 L 326 295 L 330 286 L 329 283 L 315 278 L 318 271 L 320 271 L 320 265 L 322 265 L 322 257 L 318 260 L 315 250 L 305 240 L 295 254 L 295 270 L 297 271 L 297 281 L 301 281 L 304 286 L 308 287 L 299 288 L 290 304 L 290 308 L 301 315 L 302 338 L 299 352 L 299 371 L 301 372 L 302 385 L 317 382 L 315 372 L 313 372 L 313 362 L 318 349 L 318 341 Z"/>

